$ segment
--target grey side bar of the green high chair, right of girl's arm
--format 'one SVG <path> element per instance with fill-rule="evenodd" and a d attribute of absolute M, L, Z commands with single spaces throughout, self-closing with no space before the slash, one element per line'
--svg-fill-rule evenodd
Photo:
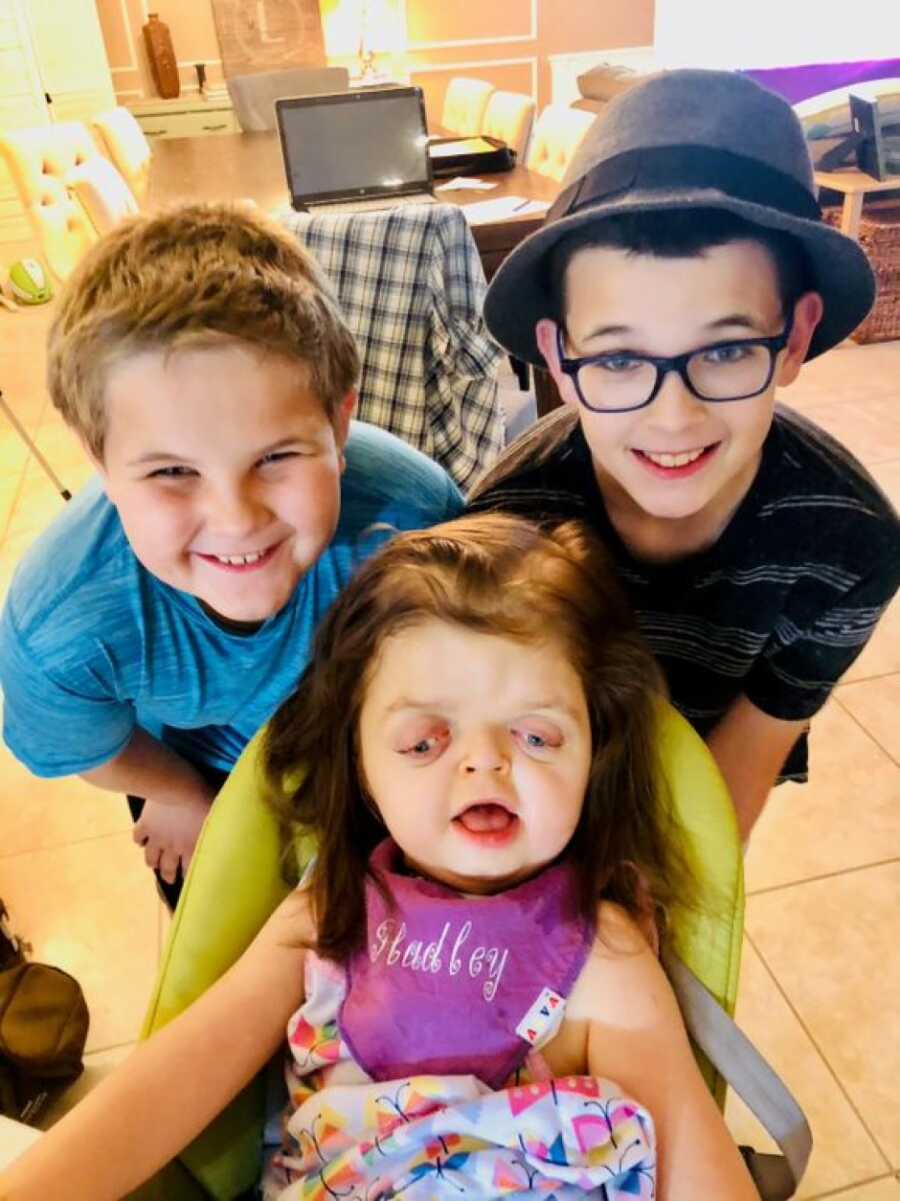
<path fill-rule="evenodd" d="M 663 950 L 662 963 L 689 1034 L 781 1148 L 781 1155 L 740 1148 L 762 1201 L 786 1201 L 797 1191 L 812 1149 L 803 1110 L 690 968 L 670 950 Z"/>

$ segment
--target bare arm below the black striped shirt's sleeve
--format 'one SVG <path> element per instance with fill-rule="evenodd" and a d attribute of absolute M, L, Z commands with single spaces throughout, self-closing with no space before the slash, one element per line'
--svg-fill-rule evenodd
<path fill-rule="evenodd" d="M 728 785 L 741 842 L 762 813 L 791 748 L 809 721 L 787 722 L 738 697 L 707 735 L 707 746 Z"/>

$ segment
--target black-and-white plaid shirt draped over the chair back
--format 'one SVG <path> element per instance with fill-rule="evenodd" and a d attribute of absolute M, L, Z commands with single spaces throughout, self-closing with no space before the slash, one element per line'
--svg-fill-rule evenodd
<path fill-rule="evenodd" d="M 484 271 L 449 204 L 279 219 L 330 276 L 363 359 L 358 417 L 441 464 L 461 489 L 503 447 L 496 368 L 482 319 Z"/>

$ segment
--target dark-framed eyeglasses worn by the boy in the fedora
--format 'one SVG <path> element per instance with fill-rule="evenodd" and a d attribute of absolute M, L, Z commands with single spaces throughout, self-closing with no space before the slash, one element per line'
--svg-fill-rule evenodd
<path fill-rule="evenodd" d="M 627 413 L 651 404 L 669 371 L 677 371 L 698 400 L 721 404 L 749 400 L 771 383 L 775 359 L 787 346 L 793 313 L 780 334 L 773 337 L 744 337 L 713 342 L 670 358 L 612 351 L 567 359 L 562 352 L 562 330 L 556 327 L 560 369 L 574 382 L 578 399 L 594 413 Z"/>

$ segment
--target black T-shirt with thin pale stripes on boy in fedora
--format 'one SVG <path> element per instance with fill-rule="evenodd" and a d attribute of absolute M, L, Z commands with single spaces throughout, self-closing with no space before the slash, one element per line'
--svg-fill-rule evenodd
<path fill-rule="evenodd" d="M 779 406 L 719 539 L 650 563 L 610 524 L 580 426 L 546 453 L 566 422 L 553 413 L 535 426 L 526 461 L 507 474 L 501 459 L 470 507 L 588 521 L 616 561 L 674 705 L 702 735 L 741 694 L 773 717 L 811 717 L 900 585 L 900 520 L 865 468 Z M 806 778 L 805 736 L 782 778 Z"/>

